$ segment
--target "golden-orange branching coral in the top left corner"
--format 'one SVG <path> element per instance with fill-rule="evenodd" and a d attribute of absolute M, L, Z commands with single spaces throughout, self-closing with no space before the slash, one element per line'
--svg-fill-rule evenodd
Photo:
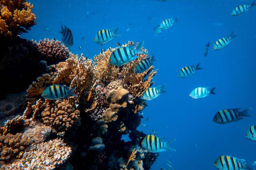
<path fill-rule="evenodd" d="M 14 37 L 30 30 L 36 24 L 33 5 L 26 0 L 1 0 L 1 36 Z"/>

